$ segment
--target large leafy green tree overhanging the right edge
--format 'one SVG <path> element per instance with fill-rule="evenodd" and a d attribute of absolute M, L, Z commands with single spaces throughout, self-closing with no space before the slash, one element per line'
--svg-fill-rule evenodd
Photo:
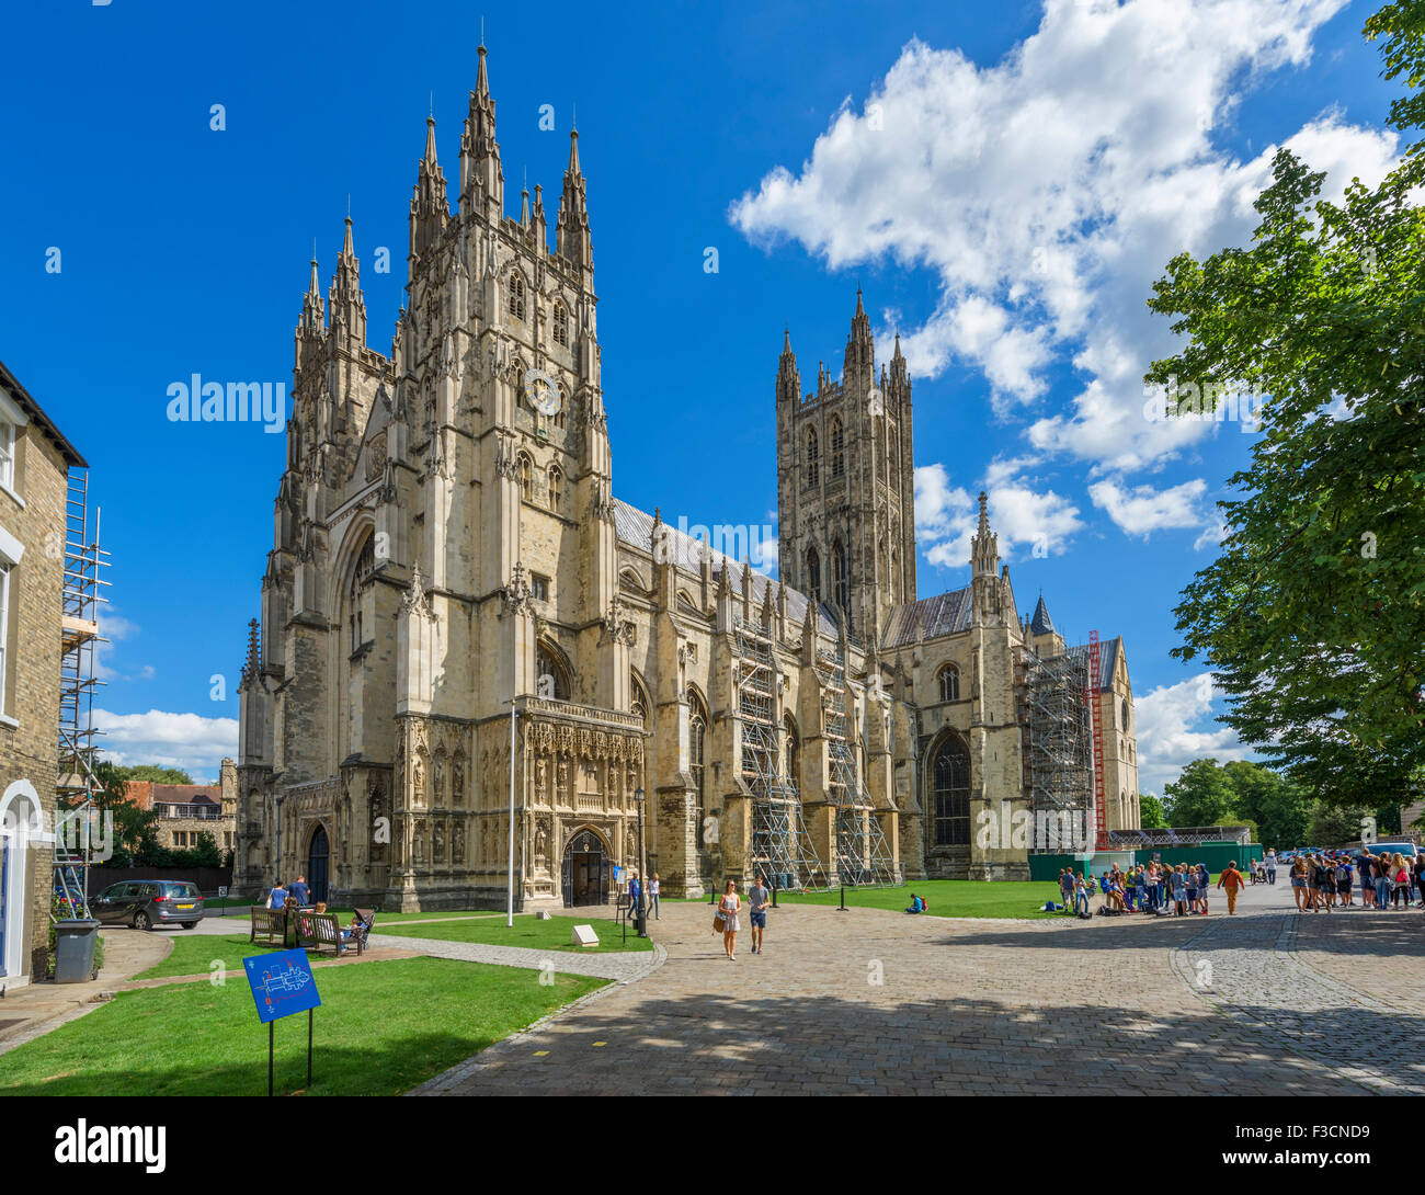
<path fill-rule="evenodd" d="M 1367 26 L 1385 76 L 1425 121 L 1418 4 Z M 1320 198 L 1324 175 L 1287 150 L 1257 200 L 1250 248 L 1174 258 L 1149 307 L 1188 338 L 1146 381 L 1170 414 L 1201 396 L 1261 395 L 1261 435 L 1227 535 L 1176 609 L 1181 659 L 1206 657 L 1227 722 L 1312 797 L 1409 800 L 1425 766 L 1425 180 L 1414 147 L 1378 188 Z M 1197 388 L 1196 391 L 1193 388 Z M 1340 404 L 1340 409 L 1337 409 Z"/>

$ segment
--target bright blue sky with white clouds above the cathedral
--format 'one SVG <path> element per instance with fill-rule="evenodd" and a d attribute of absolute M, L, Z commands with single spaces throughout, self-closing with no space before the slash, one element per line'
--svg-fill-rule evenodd
<path fill-rule="evenodd" d="M 114 560 L 100 703 L 125 761 L 205 779 L 235 753 L 284 463 L 261 425 L 170 422 L 168 385 L 289 384 L 312 242 L 325 287 L 348 202 L 388 351 L 432 97 L 457 177 L 480 17 L 409 7 L 7 20 L 0 357 L 91 465 Z M 731 7 L 484 20 L 510 214 L 526 170 L 553 214 L 577 107 L 616 492 L 673 520 L 772 522 L 782 327 L 804 386 L 818 359 L 839 374 L 859 282 L 878 355 L 899 329 L 915 378 L 921 596 L 966 582 L 986 486 L 1022 609 L 1042 589 L 1070 639 L 1126 637 L 1143 787 L 1245 754 L 1168 652 L 1251 435 L 1141 416 L 1139 379 L 1173 347 L 1143 304 L 1174 252 L 1244 241 L 1271 145 L 1332 188 L 1388 167 L 1372 7 Z"/>

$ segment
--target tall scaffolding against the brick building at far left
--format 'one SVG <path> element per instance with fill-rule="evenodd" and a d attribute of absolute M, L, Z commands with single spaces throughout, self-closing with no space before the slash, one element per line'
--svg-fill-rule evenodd
<path fill-rule="evenodd" d="M 107 599 L 108 552 L 100 548 L 100 513 L 90 512 L 88 471 L 70 469 L 64 495 L 64 582 L 60 607 L 60 737 L 56 777 L 57 813 L 54 880 L 70 916 L 88 916 L 88 867 L 94 823 L 94 794 L 103 784 L 94 773 L 94 653 L 98 607 Z"/>

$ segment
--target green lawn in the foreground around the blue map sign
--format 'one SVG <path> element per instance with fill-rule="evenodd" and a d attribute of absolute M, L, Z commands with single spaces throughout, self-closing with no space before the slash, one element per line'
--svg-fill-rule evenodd
<path fill-rule="evenodd" d="M 601 987 L 447 958 L 316 971 L 314 1095 L 396 1095 Z M 268 1031 L 241 978 L 125 991 L 0 1055 L 0 1095 L 266 1095 Z M 306 1087 L 306 1018 L 276 1022 L 276 1089 Z"/>

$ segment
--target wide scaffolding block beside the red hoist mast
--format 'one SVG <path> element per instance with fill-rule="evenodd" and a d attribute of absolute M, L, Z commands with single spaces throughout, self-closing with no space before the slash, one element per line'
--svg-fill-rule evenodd
<path fill-rule="evenodd" d="M 1093 727 L 1086 693 L 1089 656 L 1030 653 L 1025 703 L 1029 723 L 1030 850 L 1092 848 Z M 1067 838 L 1067 841 L 1064 841 Z"/>

